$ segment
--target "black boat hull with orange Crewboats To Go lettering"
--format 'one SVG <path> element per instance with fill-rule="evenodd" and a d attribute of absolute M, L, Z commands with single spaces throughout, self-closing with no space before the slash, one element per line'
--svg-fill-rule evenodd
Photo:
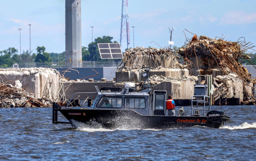
<path fill-rule="evenodd" d="M 149 116 L 134 110 L 58 109 L 72 126 L 74 121 L 85 124 L 99 123 L 107 129 L 166 129 L 192 126 L 220 128 L 230 120 L 228 116 Z M 77 128 L 77 127 L 76 127 Z"/>

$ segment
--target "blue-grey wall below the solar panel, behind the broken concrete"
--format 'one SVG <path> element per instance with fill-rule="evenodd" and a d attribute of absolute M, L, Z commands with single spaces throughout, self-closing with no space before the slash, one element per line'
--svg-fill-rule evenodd
<path fill-rule="evenodd" d="M 66 71 L 69 68 L 54 68 L 57 71 L 60 71 L 60 73 L 62 71 Z M 74 69 L 74 70 L 70 70 L 70 69 Z M 70 78 L 70 80 L 75 80 L 75 79 L 82 79 L 85 77 L 90 77 L 93 75 L 96 75 L 97 73 L 95 71 L 97 71 L 99 74 L 94 76 L 94 77 L 90 77 L 92 79 L 94 79 L 95 81 L 100 81 L 100 79 L 102 78 L 106 78 L 107 81 L 113 80 L 114 77 L 116 77 L 116 67 L 87 67 L 87 68 L 70 68 L 68 71 L 70 72 L 66 72 L 64 77 Z M 92 69 L 94 69 L 95 71 L 93 71 Z M 61 74 L 64 74 L 64 72 L 62 72 Z M 86 80 L 90 79 L 90 78 L 86 78 Z"/>

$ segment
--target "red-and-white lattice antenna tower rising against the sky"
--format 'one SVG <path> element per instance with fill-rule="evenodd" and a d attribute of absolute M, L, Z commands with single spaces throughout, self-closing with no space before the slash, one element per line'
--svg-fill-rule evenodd
<path fill-rule="evenodd" d="M 128 0 L 122 0 L 120 45 L 122 45 L 122 39 L 126 39 L 127 49 L 129 49 L 130 32 L 129 32 Z"/>

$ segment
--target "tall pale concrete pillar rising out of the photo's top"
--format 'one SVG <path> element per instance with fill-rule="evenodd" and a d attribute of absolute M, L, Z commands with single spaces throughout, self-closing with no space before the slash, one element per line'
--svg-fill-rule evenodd
<path fill-rule="evenodd" d="M 66 67 L 81 67 L 81 0 L 66 0 Z"/>

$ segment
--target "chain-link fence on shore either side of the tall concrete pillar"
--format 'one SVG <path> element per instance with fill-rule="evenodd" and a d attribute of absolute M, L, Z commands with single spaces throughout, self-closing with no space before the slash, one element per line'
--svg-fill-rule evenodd
<path fill-rule="evenodd" d="M 118 67 L 121 61 L 82 61 L 81 68 L 84 67 Z M 14 63 L 19 65 L 19 68 L 34 68 L 34 67 L 44 67 L 44 68 L 65 68 L 65 61 L 50 62 L 50 63 L 40 63 L 40 62 L 21 62 Z M 0 68 L 12 68 L 12 67 L 0 67 Z"/>

